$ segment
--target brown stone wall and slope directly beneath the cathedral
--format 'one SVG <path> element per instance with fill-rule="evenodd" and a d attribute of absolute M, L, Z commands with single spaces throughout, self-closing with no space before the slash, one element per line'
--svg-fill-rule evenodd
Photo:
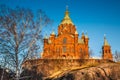
<path fill-rule="evenodd" d="M 28 60 L 22 66 L 24 70 L 35 70 L 36 73 L 42 74 L 43 77 L 48 77 L 84 65 L 90 67 L 108 62 L 112 61 L 100 59 L 36 59 Z"/>

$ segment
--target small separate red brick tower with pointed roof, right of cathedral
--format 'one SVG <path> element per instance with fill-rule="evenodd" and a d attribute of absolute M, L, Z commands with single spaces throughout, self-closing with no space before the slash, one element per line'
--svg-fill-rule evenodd
<path fill-rule="evenodd" d="M 109 45 L 105 36 L 104 36 L 104 45 L 102 47 L 102 59 L 113 60 L 111 46 Z"/>

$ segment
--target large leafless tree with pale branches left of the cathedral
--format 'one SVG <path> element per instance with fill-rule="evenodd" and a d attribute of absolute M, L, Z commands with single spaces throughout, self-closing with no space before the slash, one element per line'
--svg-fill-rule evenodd
<path fill-rule="evenodd" d="M 30 9 L 0 7 L 0 54 L 10 56 L 19 80 L 21 64 L 39 53 L 41 30 L 50 19 L 41 10 L 34 15 Z"/>

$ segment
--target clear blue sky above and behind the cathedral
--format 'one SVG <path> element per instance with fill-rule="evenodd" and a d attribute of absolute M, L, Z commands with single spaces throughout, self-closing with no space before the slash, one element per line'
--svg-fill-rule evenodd
<path fill-rule="evenodd" d="M 102 49 L 104 34 L 112 52 L 120 51 L 120 0 L 0 0 L 0 4 L 30 8 L 33 11 L 42 9 L 54 21 L 52 26 L 44 29 L 48 35 L 52 29 L 57 33 L 68 5 L 79 36 L 82 31 L 87 31 L 89 47 L 96 56 Z"/>

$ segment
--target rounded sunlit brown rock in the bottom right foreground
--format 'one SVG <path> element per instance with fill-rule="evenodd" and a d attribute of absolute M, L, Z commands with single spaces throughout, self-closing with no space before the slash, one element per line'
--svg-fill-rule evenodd
<path fill-rule="evenodd" d="M 97 67 L 71 70 L 48 80 L 120 80 L 120 64 L 104 63 Z"/>

